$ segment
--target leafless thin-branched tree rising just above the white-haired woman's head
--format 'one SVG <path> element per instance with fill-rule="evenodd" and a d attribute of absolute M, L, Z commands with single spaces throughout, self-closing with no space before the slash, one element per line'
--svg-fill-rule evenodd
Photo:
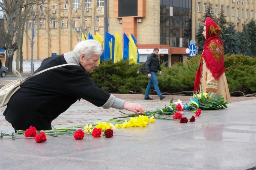
<path fill-rule="evenodd" d="M 61 3 L 66 0 L 61 0 Z M 74 32 L 77 42 L 82 41 L 82 34 L 87 35 L 97 23 L 97 15 L 102 11 L 92 7 L 90 0 L 80 0 L 78 4 L 69 3 L 65 13 L 68 16 L 68 26 Z M 101 8 L 100 8 L 101 9 Z"/>

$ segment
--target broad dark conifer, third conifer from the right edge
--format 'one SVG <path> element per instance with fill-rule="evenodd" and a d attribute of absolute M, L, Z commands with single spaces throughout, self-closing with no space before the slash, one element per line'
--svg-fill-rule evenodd
<path fill-rule="evenodd" d="M 238 33 L 235 30 L 235 26 L 230 23 L 229 27 L 225 29 L 225 33 L 222 37 L 224 41 L 224 53 L 239 54 L 239 38 Z"/>

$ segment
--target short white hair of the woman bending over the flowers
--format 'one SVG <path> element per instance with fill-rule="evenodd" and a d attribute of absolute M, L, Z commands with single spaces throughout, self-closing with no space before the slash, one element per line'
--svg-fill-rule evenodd
<path fill-rule="evenodd" d="M 79 42 L 74 48 L 74 52 L 80 57 L 82 54 L 85 58 L 91 58 L 92 55 L 101 55 L 103 52 L 100 42 L 93 39 Z"/>

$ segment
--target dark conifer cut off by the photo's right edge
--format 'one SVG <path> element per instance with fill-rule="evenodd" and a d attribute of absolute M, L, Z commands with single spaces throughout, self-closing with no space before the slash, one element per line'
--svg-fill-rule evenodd
<path fill-rule="evenodd" d="M 250 39 L 250 45 L 249 49 L 251 50 L 251 56 L 255 57 L 256 56 L 256 24 L 255 21 L 252 19 L 248 23 L 248 34 L 249 34 L 249 39 Z"/>

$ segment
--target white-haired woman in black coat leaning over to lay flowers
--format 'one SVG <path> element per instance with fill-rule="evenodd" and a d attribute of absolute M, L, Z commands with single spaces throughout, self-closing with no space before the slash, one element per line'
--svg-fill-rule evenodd
<path fill-rule="evenodd" d="M 99 66 L 102 50 L 99 42 L 87 40 L 79 42 L 74 51 L 44 59 L 35 73 L 67 63 L 77 66 L 58 67 L 26 80 L 10 98 L 4 111 L 5 119 L 15 131 L 26 130 L 31 125 L 37 130 L 49 130 L 52 120 L 81 98 L 105 109 L 113 107 L 145 113 L 140 104 L 116 98 L 97 88 L 89 79 L 87 72 Z"/>

